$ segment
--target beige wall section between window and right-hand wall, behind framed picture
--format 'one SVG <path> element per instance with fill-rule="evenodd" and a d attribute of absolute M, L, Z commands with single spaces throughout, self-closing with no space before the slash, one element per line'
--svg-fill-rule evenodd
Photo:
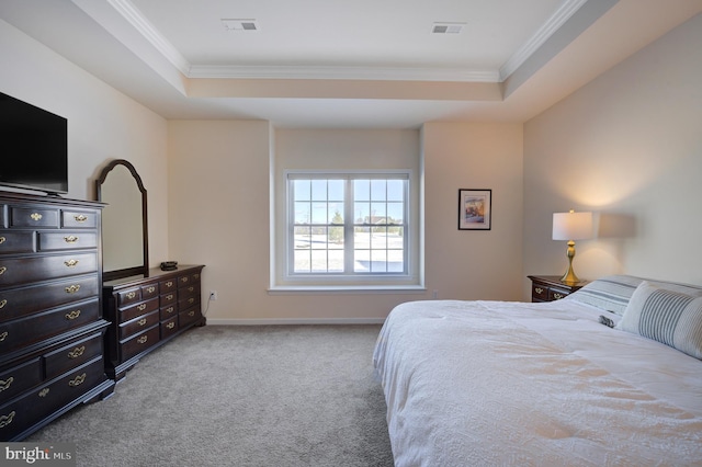
<path fill-rule="evenodd" d="M 423 129 L 427 288 L 439 298 L 520 298 L 522 125 Z M 492 190 L 491 230 L 458 230 L 458 189 Z"/>

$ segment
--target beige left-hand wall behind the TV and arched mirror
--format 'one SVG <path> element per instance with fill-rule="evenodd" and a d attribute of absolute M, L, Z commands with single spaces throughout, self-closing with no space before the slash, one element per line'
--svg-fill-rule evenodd
<path fill-rule="evenodd" d="M 3 21 L 0 44 L 0 91 L 68 118 L 66 197 L 95 200 L 95 179 L 107 161 L 129 160 L 148 190 L 151 264 L 163 261 L 166 119 Z"/>

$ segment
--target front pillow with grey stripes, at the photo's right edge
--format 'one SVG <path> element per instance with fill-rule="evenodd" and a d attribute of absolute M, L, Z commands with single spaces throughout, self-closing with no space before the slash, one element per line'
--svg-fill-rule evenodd
<path fill-rule="evenodd" d="M 700 294 L 689 295 L 644 281 L 632 295 L 616 328 L 702 360 Z"/>

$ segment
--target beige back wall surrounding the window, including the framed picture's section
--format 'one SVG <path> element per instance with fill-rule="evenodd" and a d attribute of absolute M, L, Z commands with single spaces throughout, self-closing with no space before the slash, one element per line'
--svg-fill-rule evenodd
<path fill-rule="evenodd" d="M 430 298 L 434 289 L 439 298 L 519 297 L 521 125 L 429 124 L 423 147 L 415 133 L 285 130 L 274 138 L 276 132 L 265 122 L 169 122 L 171 253 L 181 262 L 206 264 L 203 297 L 212 289 L 218 295 L 210 304 L 208 321 L 381 321 L 395 305 Z M 338 153 L 350 153 L 364 137 L 423 148 L 428 291 L 270 293 L 273 146 L 275 152 L 292 153 L 295 145 L 326 140 Z M 494 190 L 491 231 L 457 230 L 460 187 Z"/>

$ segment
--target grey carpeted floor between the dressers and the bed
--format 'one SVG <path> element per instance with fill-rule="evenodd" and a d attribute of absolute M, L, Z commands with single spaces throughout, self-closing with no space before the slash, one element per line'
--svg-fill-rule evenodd
<path fill-rule="evenodd" d="M 195 328 L 27 441 L 78 466 L 392 466 L 380 326 Z"/>

